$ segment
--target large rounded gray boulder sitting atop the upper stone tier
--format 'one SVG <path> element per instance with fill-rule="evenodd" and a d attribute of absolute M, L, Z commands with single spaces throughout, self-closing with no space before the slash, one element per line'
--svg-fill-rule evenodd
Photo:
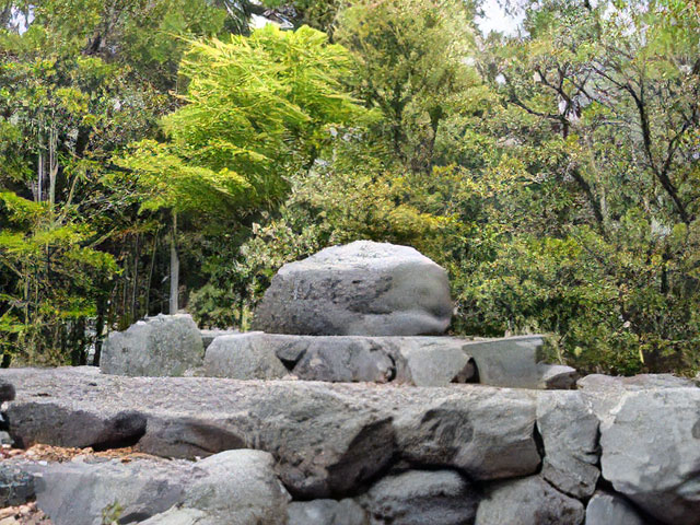
<path fill-rule="evenodd" d="M 358 241 L 284 265 L 255 313 L 273 334 L 443 334 L 452 317 L 447 273 L 408 246 Z"/>

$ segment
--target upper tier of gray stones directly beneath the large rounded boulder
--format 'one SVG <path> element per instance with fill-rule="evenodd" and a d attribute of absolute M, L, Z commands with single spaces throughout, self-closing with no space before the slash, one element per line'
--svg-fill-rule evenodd
<path fill-rule="evenodd" d="M 571 388 L 576 373 L 539 363 L 542 336 L 474 339 L 425 336 L 293 336 L 201 332 L 187 315 L 139 322 L 105 341 L 108 374 L 199 375 L 276 380 L 476 383 L 520 388 Z M 203 341 L 203 343 L 202 343 Z"/>

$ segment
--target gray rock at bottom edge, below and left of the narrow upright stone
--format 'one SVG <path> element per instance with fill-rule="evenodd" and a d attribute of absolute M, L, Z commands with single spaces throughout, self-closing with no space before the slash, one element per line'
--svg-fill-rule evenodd
<path fill-rule="evenodd" d="M 580 525 L 583 504 L 555 490 L 539 476 L 487 489 L 476 525 Z"/>

